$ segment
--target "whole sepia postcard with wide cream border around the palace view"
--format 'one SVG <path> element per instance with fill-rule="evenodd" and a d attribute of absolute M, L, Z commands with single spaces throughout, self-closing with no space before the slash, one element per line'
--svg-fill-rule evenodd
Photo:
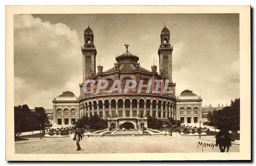
<path fill-rule="evenodd" d="M 22 8 L 7 160 L 250 159 L 249 6 Z"/>

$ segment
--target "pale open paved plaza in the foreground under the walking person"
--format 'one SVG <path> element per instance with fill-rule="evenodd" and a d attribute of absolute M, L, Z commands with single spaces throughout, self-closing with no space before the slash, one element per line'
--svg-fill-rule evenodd
<path fill-rule="evenodd" d="M 204 136 L 202 139 L 212 139 Z M 113 136 L 84 137 L 80 142 L 81 151 L 76 151 L 73 137 L 43 138 L 46 141 L 15 145 L 18 154 L 72 154 L 72 153 L 189 153 L 220 152 L 218 147 L 198 148 L 197 136 Z M 38 138 L 30 139 L 38 140 Z M 214 143 L 200 140 L 202 143 Z M 239 145 L 232 145 L 229 152 L 239 152 Z"/>

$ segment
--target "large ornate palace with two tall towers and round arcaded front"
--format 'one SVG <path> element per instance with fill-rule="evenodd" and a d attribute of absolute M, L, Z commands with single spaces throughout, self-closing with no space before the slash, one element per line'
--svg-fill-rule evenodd
<path fill-rule="evenodd" d="M 180 118 L 183 120 L 183 115 L 180 115 L 180 109 L 188 107 L 182 107 L 180 104 L 184 105 L 190 100 L 196 101 L 194 98 L 197 95 L 193 96 L 195 94 L 189 94 L 190 91 L 183 91 L 179 98 L 176 99 L 176 84 L 172 80 L 173 45 L 170 44 L 169 30 L 164 26 L 160 34 L 160 46 L 158 48 L 159 73 L 155 65 L 151 66 L 151 71 L 141 67 L 139 56 L 135 56 L 129 51 L 129 45 L 125 44 L 125 46 L 124 53 L 115 57 L 116 62 L 112 68 L 103 71 L 103 66 L 99 65 L 96 73 L 97 50 L 94 45 L 94 34 L 89 26 L 84 30 L 84 44 L 81 46 L 83 82 L 79 84 L 80 95 L 76 98 L 72 92 L 67 91 L 53 100 L 54 122 L 57 126 L 72 125 L 74 118 L 79 119 L 82 116 L 90 118 L 93 115 L 99 115 L 99 117 L 107 119 L 108 127 L 112 128 L 142 129 L 147 127 L 146 117 L 148 115 L 158 119 L 172 117 L 177 120 L 180 120 Z M 87 80 L 93 81 L 88 84 L 86 83 Z M 99 80 L 108 81 L 108 87 L 98 91 Z M 120 80 L 121 92 L 110 92 L 109 90 L 116 80 Z M 137 86 L 126 90 L 124 87 L 127 80 L 136 81 Z M 153 83 L 150 87 L 143 86 L 143 88 L 139 89 L 140 80 L 142 80 L 143 85 L 147 85 L 149 82 Z M 160 86 L 157 86 L 155 80 L 162 81 Z M 166 80 L 168 80 L 167 83 L 165 83 Z M 158 92 L 156 92 L 156 87 Z M 165 88 L 172 91 L 172 93 L 166 93 L 164 91 Z M 91 93 L 85 93 L 85 91 L 90 91 Z M 202 101 L 199 97 L 197 100 Z M 197 104 L 199 121 L 201 102 Z M 196 108 L 194 105 L 190 107 L 191 109 Z M 69 114 L 67 110 L 69 110 Z M 188 116 L 184 116 L 185 120 L 188 120 Z M 196 120 L 194 122 L 196 123 Z"/>

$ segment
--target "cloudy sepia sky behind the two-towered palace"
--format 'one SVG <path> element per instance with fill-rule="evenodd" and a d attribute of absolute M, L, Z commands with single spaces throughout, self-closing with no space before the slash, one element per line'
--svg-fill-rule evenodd
<path fill-rule="evenodd" d="M 188 89 L 202 106 L 239 98 L 239 14 L 36 14 L 14 15 L 14 104 L 52 108 L 54 96 L 82 83 L 81 45 L 90 24 L 103 71 L 129 51 L 140 65 L 158 66 L 160 32 L 170 31 L 176 95 Z"/>

